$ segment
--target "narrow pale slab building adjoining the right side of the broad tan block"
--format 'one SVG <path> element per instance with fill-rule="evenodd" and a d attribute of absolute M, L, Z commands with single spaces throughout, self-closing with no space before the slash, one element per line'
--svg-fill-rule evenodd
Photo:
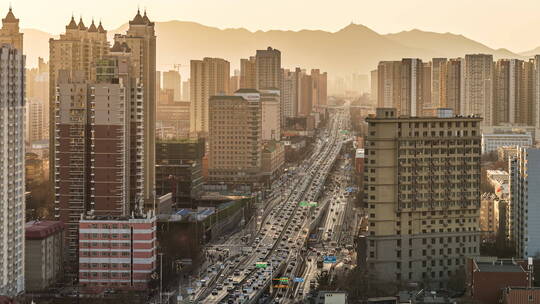
<path fill-rule="evenodd" d="M 262 139 L 281 139 L 281 106 L 278 89 L 259 90 L 262 111 Z"/>

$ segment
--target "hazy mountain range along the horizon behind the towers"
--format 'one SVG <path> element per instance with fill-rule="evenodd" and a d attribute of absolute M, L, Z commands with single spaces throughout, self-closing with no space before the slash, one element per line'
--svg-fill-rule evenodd
<path fill-rule="evenodd" d="M 127 24 L 109 31 L 125 33 Z M 28 66 L 35 66 L 37 57 L 48 58 L 48 40 L 54 35 L 26 29 L 25 52 Z M 272 46 L 281 51 L 282 66 L 286 68 L 319 68 L 332 75 L 368 73 L 381 60 L 415 57 L 430 60 L 434 57 L 455 58 L 465 54 L 493 54 L 495 59 L 525 59 L 540 53 L 540 47 L 523 53 L 488 46 L 452 33 L 421 30 L 381 35 L 370 28 L 350 24 L 337 32 L 320 30 L 256 31 L 243 28 L 219 29 L 195 22 L 156 22 L 157 65 L 159 70 L 182 65 L 182 74 L 189 71 L 191 59 L 220 57 L 231 62 L 231 69 L 239 68 L 240 58 L 255 54 L 257 49 Z M 185 69 L 185 70 L 184 70 Z"/>

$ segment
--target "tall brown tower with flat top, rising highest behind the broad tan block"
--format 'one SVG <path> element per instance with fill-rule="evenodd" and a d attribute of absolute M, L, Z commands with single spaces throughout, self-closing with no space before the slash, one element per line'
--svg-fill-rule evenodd
<path fill-rule="evenodd" d="M 257 67 L 257 87 L 255 89 L 280 89 L 281 52 L 271 47 L 266 50 L 257 50 L 255 64 Z"/>

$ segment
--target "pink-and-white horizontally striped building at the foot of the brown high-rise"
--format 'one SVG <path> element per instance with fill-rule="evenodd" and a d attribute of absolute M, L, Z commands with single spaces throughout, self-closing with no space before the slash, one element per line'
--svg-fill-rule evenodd
<path fill-rule="evenodd" d="M 79 286 L 87 292 L 146 290 L 157 268 L 156 216 L 81 216 Z"/>

